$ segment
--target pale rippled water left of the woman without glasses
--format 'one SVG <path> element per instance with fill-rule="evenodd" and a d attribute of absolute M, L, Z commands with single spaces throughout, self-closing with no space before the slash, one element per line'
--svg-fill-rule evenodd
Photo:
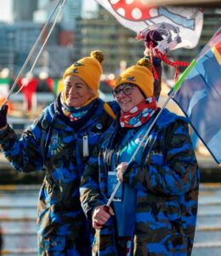
<path fill-rule="evenodd" d="M 2 186 L 0 224 L 3 230 L 3 253 L 37 255 L 37 196 L 40 186 Z"/>

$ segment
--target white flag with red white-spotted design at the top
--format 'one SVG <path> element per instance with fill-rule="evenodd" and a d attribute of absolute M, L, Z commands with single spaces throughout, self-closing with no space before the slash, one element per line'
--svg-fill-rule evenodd
<path fill-rule="evenodd" d="M 116 17 L 122 26 L 134 32 L 166 23 L 178 27 L 182 40 L 177 48 L 194 48 L 200 39 L 203 12 L 200 8 L 160 7 L 148 1 L 96 0 Z"/>

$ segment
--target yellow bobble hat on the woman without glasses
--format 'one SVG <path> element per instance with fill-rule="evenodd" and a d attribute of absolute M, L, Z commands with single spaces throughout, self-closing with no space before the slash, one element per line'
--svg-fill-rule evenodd
<path fill-rule="evenodd" d="M 99 80 L 102 74 L 101 63 L 104 61 L 105 55 L 100 50 L 94 50 L 89 57 L 82 58 L 68 67 L 63 75 L 63 79 L 67 76 L 78 76 L 88 87 L 98 94 Z"/>

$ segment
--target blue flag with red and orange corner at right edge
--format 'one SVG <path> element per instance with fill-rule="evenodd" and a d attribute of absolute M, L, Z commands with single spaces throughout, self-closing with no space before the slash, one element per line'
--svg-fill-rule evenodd
<path fill-rule="evenodd" d="M 221 28 L 201 50 L 172 92 L 201 142 L 221 163 Z M 181 85 L 181 86 L 180 86 Z M 174 96 L 173 96 L 173 92 Z"/>

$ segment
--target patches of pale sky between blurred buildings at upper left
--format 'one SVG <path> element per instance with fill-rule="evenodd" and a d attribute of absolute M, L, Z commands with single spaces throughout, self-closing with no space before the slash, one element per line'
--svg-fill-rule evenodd
<path fill-rule="evenodd" d="M 95 0 L 83 0 L 83 2 L 85 2 L 83 3 L 83 9 L 88 9 L 88 7 L 94 9 Z M 0 0 L 0 21 L 10 22 L 12 21 L 12 15 L 12 0 Z"/>

